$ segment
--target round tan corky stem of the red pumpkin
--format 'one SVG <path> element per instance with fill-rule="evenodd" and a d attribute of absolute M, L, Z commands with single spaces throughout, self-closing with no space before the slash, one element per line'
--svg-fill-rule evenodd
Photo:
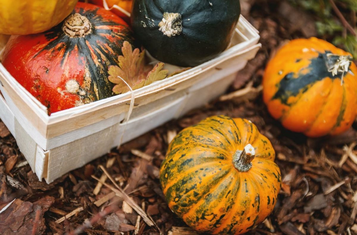
<path fill-rule="evenodd" d="M 75 13 L 69 15 L 62 26 L 62 30 L 69 37 L 84 37 L 92 31 L 91 23 L 87 17 Z"/>

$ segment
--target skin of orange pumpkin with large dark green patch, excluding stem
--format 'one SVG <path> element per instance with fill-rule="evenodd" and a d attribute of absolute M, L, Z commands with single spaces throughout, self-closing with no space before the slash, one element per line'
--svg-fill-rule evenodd
<path fill-rule="evenodd" d="M 357 114 L 357 67 L 351 62 L 348 72 L 333 75 L 327 65 L 339 56 L 352 59 L 350 53 L 317 38 L 283 46 L 263 76 L 263 99 L 271 115 L 285 128 L 309 137 L 350 128 Z"/>

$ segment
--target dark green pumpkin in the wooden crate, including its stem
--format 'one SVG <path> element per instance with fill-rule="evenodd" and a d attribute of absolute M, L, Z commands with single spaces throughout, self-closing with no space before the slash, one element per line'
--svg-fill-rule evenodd
<path fill-rule="evenodd" d="M 187 67 L 228 47 L 240 12 L 239 0 L 135 0 L 131 24 L 157 60 Z"/>

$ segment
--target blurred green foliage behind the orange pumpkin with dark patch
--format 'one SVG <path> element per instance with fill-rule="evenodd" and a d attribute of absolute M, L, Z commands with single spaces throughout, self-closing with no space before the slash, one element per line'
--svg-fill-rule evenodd
<path fill-rule="evenodd" d="M 330 0 L 290 0 L 292 4 L 303 7 L 310 11 L 316 17 L 316 29 L 318 36 L 329 38 L 336 46 L 343 47 L 357 58 L 357 38 L 347 31 L 344 35 L 343 25 L 332 9 Z M 347 21 L 352 12 L 357 12 L 357 0 L 335 0 L 336 4 L 341 7 L 342 14 Z M 340 2 L 341 4 L 338 4 Z M 355 13 L 356 14 L 356 13 Z M 356 27 L 352 25 L 352 27 Z"/>

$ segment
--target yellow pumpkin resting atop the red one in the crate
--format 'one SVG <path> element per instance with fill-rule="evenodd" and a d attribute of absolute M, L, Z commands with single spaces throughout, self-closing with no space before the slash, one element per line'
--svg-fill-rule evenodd
<path fill-rule="evenodd" d="M 44 32 L 64 20 L 78 0 L 0 0 L 0 34 Z"/>

